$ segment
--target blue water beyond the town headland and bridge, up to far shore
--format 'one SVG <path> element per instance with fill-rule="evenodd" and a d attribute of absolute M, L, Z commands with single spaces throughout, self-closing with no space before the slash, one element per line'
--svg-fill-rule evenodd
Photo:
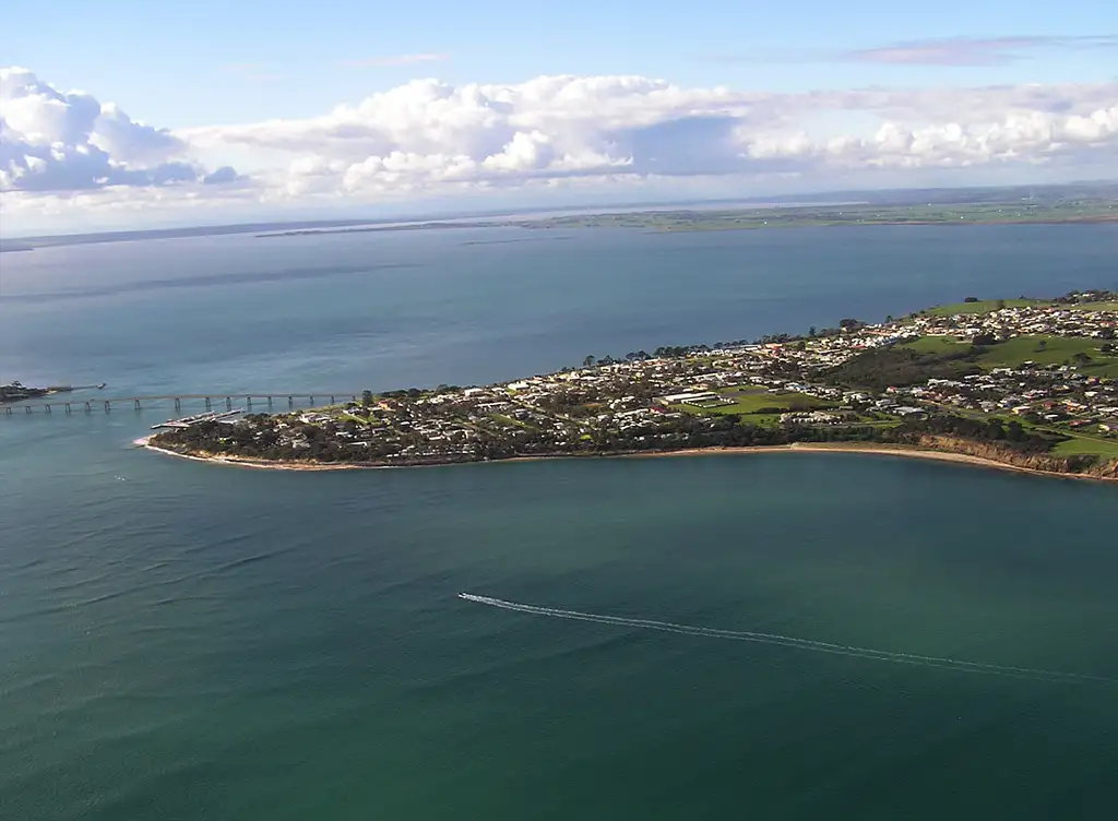
<path fill-rule="evenodd" d="M 0 374 L 124 393 L 484 383 L 587 353 L 803 332 L 968 295 L 1118 287 L 1115 226 L 491 242 L 541 236 L 228 236 L 8 254 Z"/>

